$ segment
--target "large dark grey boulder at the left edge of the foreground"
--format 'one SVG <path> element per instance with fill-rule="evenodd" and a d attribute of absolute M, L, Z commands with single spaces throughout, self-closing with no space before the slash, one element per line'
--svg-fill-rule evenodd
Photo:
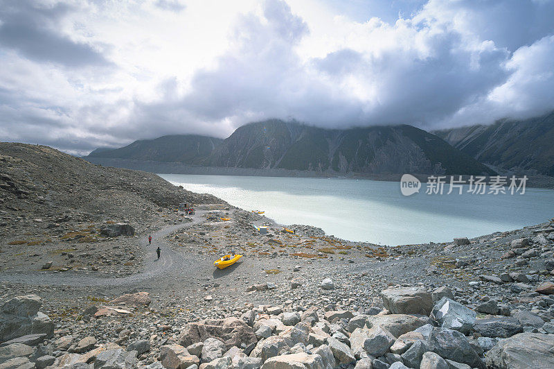
<path fill-rule="evenodd" d="M 42 300 L 37 295 L 17 296 L 0 307 L 0 342 L 28 334 L 54 334 L 54 323 L 39 309 Z"/>

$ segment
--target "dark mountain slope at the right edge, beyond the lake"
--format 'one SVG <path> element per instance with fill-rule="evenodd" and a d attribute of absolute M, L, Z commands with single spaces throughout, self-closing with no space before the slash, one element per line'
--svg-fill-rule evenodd
<path fill-rule="evenodd" d="M 554 175 L 554 112 L 434 134 L 479 162 L 517 173 Z"/>

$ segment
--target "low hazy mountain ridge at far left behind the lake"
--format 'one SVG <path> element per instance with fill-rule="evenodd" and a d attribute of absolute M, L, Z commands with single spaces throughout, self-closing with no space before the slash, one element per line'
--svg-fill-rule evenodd
<path fill-rule="evenodd" d="M 141 139 L 122 148 L 98 148 L 89 157 L 197 164 L 208 157 L 222 139 L 199 135 L 168 135 Z"/>

